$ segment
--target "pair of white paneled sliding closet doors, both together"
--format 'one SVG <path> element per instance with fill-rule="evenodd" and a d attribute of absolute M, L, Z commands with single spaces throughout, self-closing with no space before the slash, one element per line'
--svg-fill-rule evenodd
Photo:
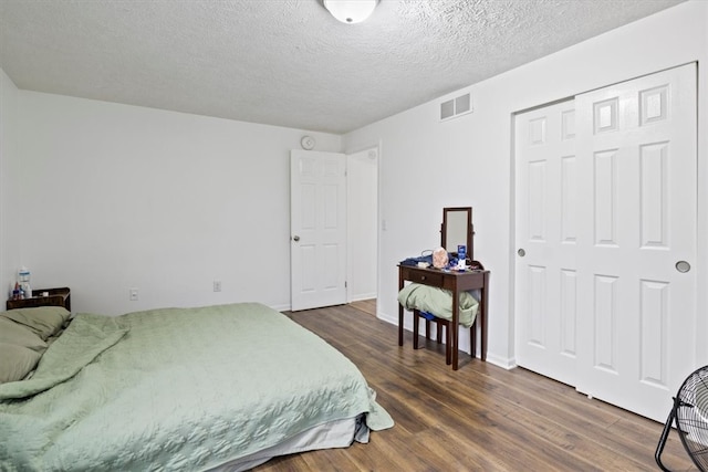
<path fill-rule="evenodd" d="M 697 367 L 696 67 L 516 125 L 517 361 L 664 421 Z"/>

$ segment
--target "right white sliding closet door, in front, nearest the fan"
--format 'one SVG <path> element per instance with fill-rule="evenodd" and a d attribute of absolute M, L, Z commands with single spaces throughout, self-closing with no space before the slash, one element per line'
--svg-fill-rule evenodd
<path fill-rule="evenodd" d="M 591 92 L 575 106 L 576 387 L 664 421 L 696 367 L 697 271 L 676 266 L 696 264 L 696 67 Z"/>

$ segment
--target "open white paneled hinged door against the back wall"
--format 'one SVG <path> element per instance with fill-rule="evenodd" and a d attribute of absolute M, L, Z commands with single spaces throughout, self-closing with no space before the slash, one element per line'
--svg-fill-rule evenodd
<path fill-rule="evenodd" d="M 346 303 L 346 159 L 290 153 L 291 310 Z"/>

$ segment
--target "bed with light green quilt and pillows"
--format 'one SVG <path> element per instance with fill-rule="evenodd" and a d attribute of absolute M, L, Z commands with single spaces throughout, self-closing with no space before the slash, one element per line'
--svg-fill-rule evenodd
<path fill-rule="evenodd" d="M 67 318 L 0 313 L 0 470 L 239 471 L 393 426 L 344 355 L 261 304 Z"/>

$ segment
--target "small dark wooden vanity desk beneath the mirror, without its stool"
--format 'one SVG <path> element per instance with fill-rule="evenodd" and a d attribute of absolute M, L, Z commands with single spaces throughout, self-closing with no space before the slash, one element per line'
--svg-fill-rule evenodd
<path fill-rule="evenodd" d="M 481 359 L 487 360 L 487 287 L 489 286 L 489 271 L 442 271 L 439 269 L 423 269 L 413 265 L 398 265 L 398 291 L 405 282 L 415 282 L 423 285 L 445 289 L 452 292 L 452 369 L 458 368 L 458 339 L 459 339 L 459 295 L 460 292 L 479 289 L 479 311 L 472 325 L 470 350 L 472 357 L 477 354 L 477 321 L 481 332 Z M 398 304 L 398 346 L 403 346 L 403 315 L 404 307 Z"/>

